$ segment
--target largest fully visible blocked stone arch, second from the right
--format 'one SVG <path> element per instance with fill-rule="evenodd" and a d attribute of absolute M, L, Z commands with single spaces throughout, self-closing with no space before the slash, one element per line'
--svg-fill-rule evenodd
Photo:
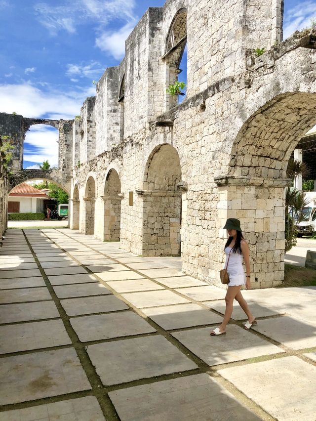
<path fill-rule="evenodd" d="M 157 146 L 150 154 L 144 173 L 143 255 L 181 253 L 181 165 L 177 150 Z"/>

